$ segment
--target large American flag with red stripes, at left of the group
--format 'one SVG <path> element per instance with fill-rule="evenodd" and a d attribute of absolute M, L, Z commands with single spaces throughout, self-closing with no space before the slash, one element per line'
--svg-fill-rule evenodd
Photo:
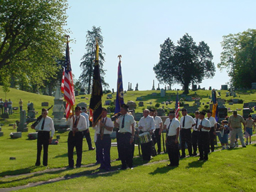
<path fill-rule="evenodd" d="M 61 82 L 61 92 L 63 92 L 64 100 L 67 102 L 66 108 L 65 108 L 65 114 L 66 114 L 66 119 L 68 119 L 68 117 L 72 112 L 72 107 L 75 105 L 74 83 L 73 83 L 73 77 L 72 77 L 68 41 L 67 41 L 67 48 L 66 48 L 66 55 L 65 55 L 65 68 L 63 70 L 63 79 Z"/>

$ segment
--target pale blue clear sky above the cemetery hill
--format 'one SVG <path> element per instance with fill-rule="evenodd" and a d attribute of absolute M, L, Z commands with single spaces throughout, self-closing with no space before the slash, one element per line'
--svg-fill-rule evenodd
<path fill-rule="evenodd" d="M 105 82 L 109 89 L 117 89 L 117 66 L 122 55 L 122 80 L 124 90 L 128 82 L 134 89 L 151 90 L 154 65 L 159 62 L 160 45 L 171 38 L 175 45 L 185 33 L 193 41 L 204 41 L 210 47 L 215 65 L 215 76 L 204 79 L 201 87 L 220 90 L 230 78 L 226 70 L 217 68 L 220 63 L 223 36 L 256 28 L 256 1 L 111 1 L 68 0 L 68 25 L 70 29 L 70 60 L 75 78 L 81 74 L 81 58 L 85 54 L 87 31 L 92 26 L 102 29 L 103 53 L 105 53 Z M 165 85 L 159 85 L 164 88 Z M 173 85 L 172 89 L 181 89 Z"/>

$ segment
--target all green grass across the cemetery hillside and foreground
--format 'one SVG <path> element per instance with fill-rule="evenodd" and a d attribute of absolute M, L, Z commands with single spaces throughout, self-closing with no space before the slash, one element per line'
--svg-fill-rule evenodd
<path fill-rule="evenodd" d="M 158 93 L 158 96 L 151 96 L 152 92 Z M 222 98 L 225 97 L 225 90 L 220 91 Z M 182 92 L 179 91 L 179 94 Z M 242 90 L 237 92 L 239 99 L 244 102 L 255 100 L 255 90 Z M 209 90 L 197 90 L 189 94 L 192 97 L 201 97 L 201 102 L 209 102 Z M 4 97 L 4 92 L 0 87 L 0 97 Z M 82 95 L 84 96 L 84 95 Z M 240 96 L 240 97 L 239 97 Z M 86 102 L 89 105 L 90 95 L 85 95 L 89 100 L 76 98 L 76 102 Z M 142 112 L 143 108 L 150 106 L 146 102 L 163 102 L 165 100 L 173 100 L 174 103 L 169 105 L 173 108 L 176 100 L 176 91 L 166 91 L 166 97 L 160 97 L 160 91 L 132 91 L 124 95 L 124 102 L 133 100 L 137 97 L 142 97 L 144 107 L 137 107 L 136 112 Z M 33 93 L 23 92 L 20 90 L 11 89 L 7 94 L 7 99 L 11 98 L 14 102 L 13 106 L 18 107 L 19 98 L 23 100 L 24 109 L 29 101 L 34 103 L 36 111 L 41 112 L 41 102 L 49 102 L 53 105 L 54 97 L 45 95 L 36 95 Z M 114 100 L 115 95 L 113 95 Z M 180 97 L 181 99 L 181 97 Z M 107 95 L 103 95 L 102 103 L 107 100 Z M 136 102 L 137 106 L 139 102 Z M 193 105 L 193 102 L 186 102 Z M 106 106 L 107 107 L 107 106 Z M 202 105 L 203 107 L 203 105 Z M 226 105 L 231 110 L 242 108 L 242 104 Z M 242 114 L 242 111 L 239 112 Z M 51 112 L 49 112 L 52 117 Z M 19 139 L 10 139 L 9 134 L 16 132 L 9 127 L 9 124 L 14 123 L 19 119 L 19 113 L 16 111 L 10 116 L 10 119 L 0 119 L 3 123 L 2 132 L 4 137 L 0 137 L 0 188 L 12 186 L 22 186 L 31 182 L 48 181 L 52 178 L 60 176 L 80 176 L 67 181 L 59 181 L 50 183 L 36 188 L 26 189 L 26 191 L 255 191 L 253 183 L 255 183 L 255 144 L 248 146 L 246 149 L 235 149 L 232 151 L 220 151 L 210 154 L 210 160 L 204 164 L 196 161 L 197 158 L 188 158 L 180 161 L 180 166 L 176 169 L 170 169 L 165 166 L 166 162 L 159 162 L 149 166 L 142 166 L 144 162 L 141 158 L 134 159 L 134 165 L 137 166 L 134 170 L 114 171 L 110 174 L 100 175 L 100 171 L 96 170 L 98 166 L 87 166 L 80 169 L 51 171 L 47 173 L 35 173 L 53 168 L 64 168 L 68 166 L 68 133 L 56 133 L 60 135 L 58 145 L 49 146 L 48 168 L 44 166 L 34 166 L 36 162 L 36 140 L 28 140 L 28 133 L 34 132 L 28 128 L 28 132 L 23 132 Z M 30 124 L 28 125 L 30 127 Z M 91 137 L 94 135 L 94 130 L 90 128 Z M 255 141 L 255 137 L 252 137 Z M 92 138 L 93 141 L 93 138 Z M 94 144 L 92 144 L 94 146 Z M 138 155 L 137 147 L 134 155 Z M 16 157 L 16 160 L 9 160 L 11 156 Z M 76 159 L 76 156 L 75 156 Z M 117 147 L 111 149 L 111 159 L 117 159 Z M 167 154 L 161 154 L 154 157 L 154 161 L 168 159 Z M 88 165 L 95 163 L 95 151 L 88 151 L 87 143 L 83 142 L 82 164 Z M 112 162 L 112 168 L 120 167 L 120 161 Z M 18 176 L 19 174 L 32 173 L 29 176 Z M 34 173 L 34 174 L 33 174 Z M 82 175 L 82 176 L 81 176 Z M 12 176 L 4 178 L 4 176 Z M 203 182 L 203 184 L 199 183 Z"/>

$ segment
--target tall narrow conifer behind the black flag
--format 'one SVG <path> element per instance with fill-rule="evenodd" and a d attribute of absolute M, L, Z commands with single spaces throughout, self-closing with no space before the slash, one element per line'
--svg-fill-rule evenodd
<path fill-rule="evenodd" d="M 101 29 L 100 27 L 96 28 L 95 26 L 92 27 L 92 31 L 87 31 L 86 35 L 86 45 L 85 55 L 82 56 L 82 62 L 80 63 L 80 67 L 82 68 L 82 73 L 80 75 L 80 81 L 82 82 L 82 85 L 87 87 L 87 94 L 90 94 L 90 91 L 92 89 L 92 79 L 93 79 L 93 69 L 95 64 L 95 48 L 96 48 L 96 39 L 99 43 L 99 65 L 100 65 L 100 77 L 102 80 L 103 87 L 109 87 L 107 82 L 104 80 L 105 71 L 103 69 L 103 63 L 105 62 L 104 55 L 105 53 L 102 53 L 102 43 L 103 38 L 101 35 Z"/>

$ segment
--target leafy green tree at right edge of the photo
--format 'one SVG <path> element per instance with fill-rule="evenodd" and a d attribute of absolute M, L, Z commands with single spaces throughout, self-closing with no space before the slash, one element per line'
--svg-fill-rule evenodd
<path fill-rule="evenodd" d="M 234 87 L 250 88 L 252 82 L 256 82 L 256 30 L 223 36 L 221 46 L 218 68 L 228 69 Z"/>

